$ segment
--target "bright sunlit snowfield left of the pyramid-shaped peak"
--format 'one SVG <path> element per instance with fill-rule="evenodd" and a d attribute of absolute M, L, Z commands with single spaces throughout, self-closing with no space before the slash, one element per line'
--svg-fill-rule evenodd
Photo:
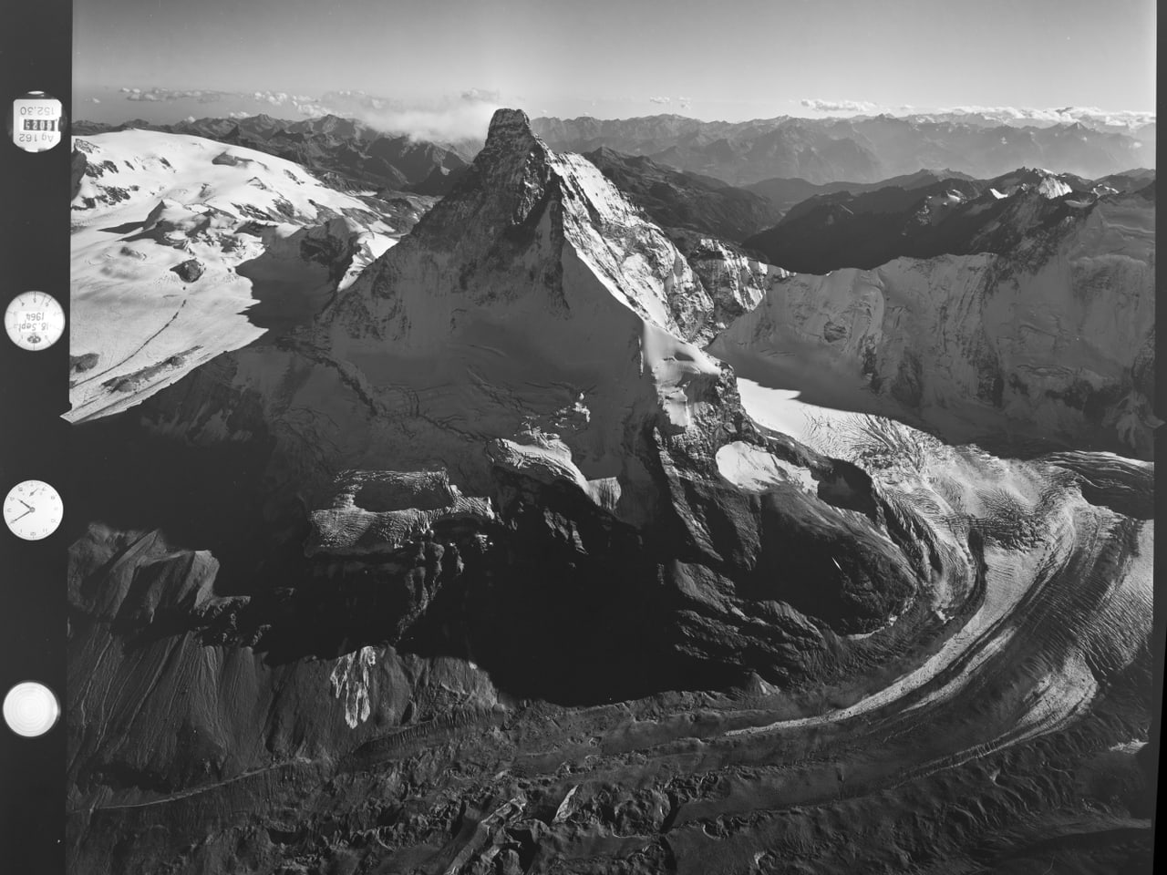
<path fill-rule="evenodd" d="M 279 309 L 314 310 L 399 237 L 365 201 L 252 149 L 154 131 L 74 145 L 86 167 L 72 204 L 71 421 L 274 328 L 249 313 L 258 282 L 289 299 Z M 352 256 L 338 281 L 303 260 L 331 250 Z"/>

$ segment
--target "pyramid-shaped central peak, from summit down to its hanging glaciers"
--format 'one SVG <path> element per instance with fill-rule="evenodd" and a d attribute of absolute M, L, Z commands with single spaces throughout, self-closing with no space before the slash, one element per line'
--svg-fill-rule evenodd
<path fill-rule="evenodd" d="M 579 407 L 586 425 L 557 433 L 595 462 L 585 469 L 612 473 L 629 433 L 689 428 L 720 379 L 690 342 L 711 310 L 685 258 L 594 164 L 501 110 L 466 176 L 354 282 L 319 340 L 371 393 L 441 386 L 427 415 L 456 424 L 467 471 L 484 441 Z"/>

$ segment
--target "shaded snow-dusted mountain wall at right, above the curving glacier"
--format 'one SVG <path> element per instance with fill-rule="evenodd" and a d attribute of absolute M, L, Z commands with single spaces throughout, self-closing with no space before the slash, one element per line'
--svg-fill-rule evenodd
<path fill-rule="evenodd" d="M 1149 457 L 1158 420 L 1140 363 L 1153 355 L 1153 212 L 1128 196 L 1005 256 L 798 274 L 710 350 L 766 385 L 955 442 Z"/>

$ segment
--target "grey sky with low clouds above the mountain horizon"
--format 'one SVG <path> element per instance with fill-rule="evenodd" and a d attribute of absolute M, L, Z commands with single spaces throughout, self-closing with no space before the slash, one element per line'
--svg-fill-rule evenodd
<path fill-rule="evenodd" d="M 336 110 L 456 134 L 498 105 L 739 121 L 1155 102 L 1154 0 L 75 0 L 74 16 L 74 116 L 98 121 Z"/>

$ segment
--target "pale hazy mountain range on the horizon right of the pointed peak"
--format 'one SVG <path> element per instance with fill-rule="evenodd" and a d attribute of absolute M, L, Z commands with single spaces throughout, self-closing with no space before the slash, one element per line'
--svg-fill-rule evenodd
<path fill-rule="evenodd" d="M 1096 178 L 1154 162 L 1153 123 L 1138 132 L 1081 121 L 1018 127 L 981 117 L 781 117 L 740 123 L 683 116 L 548 117 L 531 124 L 557 149 L 587 153 L 608 147 L 734 186 L 773 177 L 813 184 L 876 182 L 921 168 L 992 178 L 1018 167 L 1048 167 Z"/>

